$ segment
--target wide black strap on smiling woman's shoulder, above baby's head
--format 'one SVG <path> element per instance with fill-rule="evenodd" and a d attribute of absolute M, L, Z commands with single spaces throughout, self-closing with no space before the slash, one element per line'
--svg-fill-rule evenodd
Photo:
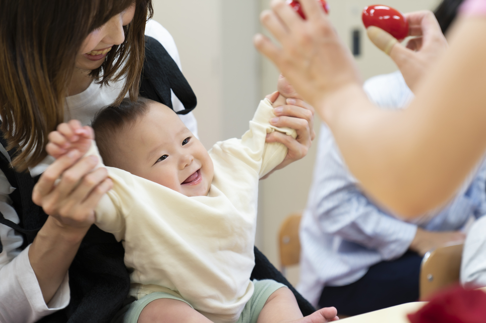
<path fill-rule="evenodd" d="M 178 114 L 187 114 L 196 107 L 196 95 L 174 59 L 157 40 L 145 36 L 145 61 L 140 78 L 140 95 L 174 109 L 171 89 L 184 105 L 184 110 L 178 111 Z"/>

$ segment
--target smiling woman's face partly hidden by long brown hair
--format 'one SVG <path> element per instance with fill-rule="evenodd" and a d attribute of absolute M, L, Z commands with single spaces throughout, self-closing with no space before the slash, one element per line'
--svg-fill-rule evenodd
<path fill-rule="evenodd" d="M 132 21 L 134 14 L 135 3 L 113 16 L 100 28 L 93 30 L 84 40 L 76 56 L 75 67 L 84 71 L 92 71 L 100 67 L 112 46 L 120 45 L 125 40 L 123 26 Z"/>

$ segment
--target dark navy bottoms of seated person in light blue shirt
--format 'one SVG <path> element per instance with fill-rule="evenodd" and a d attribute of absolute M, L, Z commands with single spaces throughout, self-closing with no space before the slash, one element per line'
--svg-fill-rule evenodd
<path fill-rule="evenodd" d="M 406 252 L 402 257 L 371 266 L 358 281 L 324 287 L 320 307 L 334 306 L 339 314 L 359 315 L 419 299 L 422 256 Z"/>

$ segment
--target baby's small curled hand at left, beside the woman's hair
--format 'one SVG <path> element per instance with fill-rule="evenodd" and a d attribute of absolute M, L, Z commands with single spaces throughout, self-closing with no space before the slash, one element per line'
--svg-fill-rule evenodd
<path fill-rule="evenodd" d="M 48 138 L 49 143 L 46 146 L 46 151 L 49 155 L 58 159 L 74 149 L 84 155 L 91 147 L 94 132 L 91 127 L 82 127 L 79 121 L 71 120 L 68 123 L 61 123 L 57 131 L 51 132 Z"/>

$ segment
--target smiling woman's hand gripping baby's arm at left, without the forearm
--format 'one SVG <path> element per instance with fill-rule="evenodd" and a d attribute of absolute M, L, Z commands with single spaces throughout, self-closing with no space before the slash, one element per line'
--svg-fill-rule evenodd
<path fill-rule="evenodd" d="M 32 200 L 61 228 L 87 231 L 95 221 L 96 205 L 113 183 L 105 168 L 94 170 L 97 157 L 78 161 L 80 155 L 72 150 L 49 166 L 34 186 Z"/>

